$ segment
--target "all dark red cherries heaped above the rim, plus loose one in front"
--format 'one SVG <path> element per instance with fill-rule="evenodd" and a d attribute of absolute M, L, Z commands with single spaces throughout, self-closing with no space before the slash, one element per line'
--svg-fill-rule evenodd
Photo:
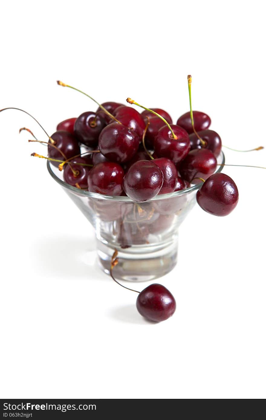
<path fill-rule="evenodd" d="M 224 173 L 214 173 L 221 138 L 209 129 L 207 114 L 192 112 L 191 76 L 188 85 L 190 112 L 181 115 L 176 124 L 165 110 L 142 107 L 130 98 L 127 102 L 144 108 L 142 113 L 121 103 L 104 102 L 96 111 L 62 121 L 51 136 L 45 132 L 48 159 L 63 170 L 64 181 L 72 186 L 108 196 L 127 195 L 137 203 L 203 182 L 197 192 L 200 207 L 217 216 L 229 214 L 238 202 L 237 186 Z M 168 209 L 164 210 L 169 218 Z M 115 250 L 111 259 L 114 281 L 117 254 Z M 141 292 L 129 290 L 139 294 L 137 310 L 148 320 L 166 320 L 176 309 L 173 295 L 161 284 L 151 284 Z"/>

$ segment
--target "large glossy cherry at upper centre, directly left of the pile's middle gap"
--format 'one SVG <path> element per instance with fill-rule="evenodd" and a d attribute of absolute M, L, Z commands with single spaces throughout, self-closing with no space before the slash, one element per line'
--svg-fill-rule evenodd
<path fill-rule="evenodd" d="M 118 123 L 108 124 L 100 133 L 100 152 L 110 161 L 124 163 L 137 153 L 140 139 L 134 131 Z"/>

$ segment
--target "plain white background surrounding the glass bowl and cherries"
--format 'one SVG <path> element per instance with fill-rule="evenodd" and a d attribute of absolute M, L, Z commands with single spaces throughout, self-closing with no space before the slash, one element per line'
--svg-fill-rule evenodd
<path fill-rule="evenodd" d="M 260 1 L 5 2 L 0 108 L 21 107 L 50 134 L 99 102 L 126 97 L 208 113 L 224 144 L 265 146 L 264 17 Z M 180 228 L 179 262 L 161 282 L 177 310 L 147 323 L 135 294 L 100 272 L 94 232 L 50 178 L 44 147 L 18 135 L 27 115 L 0 114 L 1 397 L 264 398 L 265 178 L 226 168 L 234 212 L 195 208 Z M 225 150 L 227 163 L 265 165 L 265 150 Z M 142 284 L 143 287 L 147 283 Z"/>

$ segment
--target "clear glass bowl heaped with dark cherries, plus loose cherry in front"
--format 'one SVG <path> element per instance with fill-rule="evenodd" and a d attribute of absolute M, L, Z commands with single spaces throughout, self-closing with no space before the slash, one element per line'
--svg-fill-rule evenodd
<path fill-rule="evenodd" d="M 221 138 L 210 129 L 207 114 L 192 111 L 191 80 L 188 76 L 190 111 L 176 123 L 161 108 L 130 98 L 127 105 L 100 104 L 58 81 L 98 108 L 62 121 L 51 136 L 43 129 L 47 142 L 20 130 L 32 134 L 29 142 L 47 144 L 47 156 L 32 156 L 47 159 L 50 176 L 92 224 L 100 268 L 116 282 L 154 280 L 171 271 L 179 226 L 195 203 L 216 216 L 237 205 L 237 186 L 221 173 Z M 174 313 L 174 297 L 164 286 L 154 283 L 142 292 L 126 288 L 139 294 L 137 309 L 145 318 L 159 321 Z"/>

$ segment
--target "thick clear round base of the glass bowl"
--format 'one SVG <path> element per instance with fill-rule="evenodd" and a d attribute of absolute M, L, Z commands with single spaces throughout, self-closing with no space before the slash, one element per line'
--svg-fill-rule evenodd
<path fill-rule="evenodd" d="M 169 273 L 177 262 L 178 235 L 159 249 L 152 247 L 118 248 L 119 263 L 113 269 L 117 280 L 150 281 Z M 153 249 L 154 248 L 154 249 Z M 157 247 L 158 248 L 158 247 Z M 97 239 L 97 252 L 100 269 L 110 274 L 111 257 L 114 247 Z"/>

